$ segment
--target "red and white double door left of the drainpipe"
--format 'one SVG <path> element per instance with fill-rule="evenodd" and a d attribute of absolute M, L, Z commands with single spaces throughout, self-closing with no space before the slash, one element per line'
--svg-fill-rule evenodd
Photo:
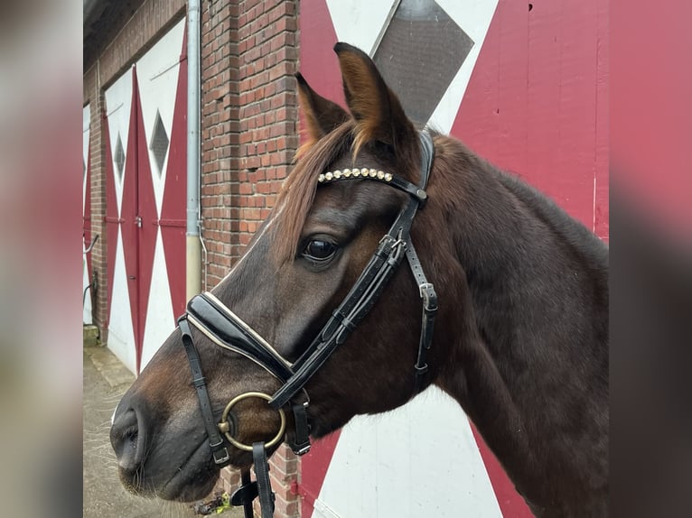
<path fill-rule="evenodd" d="M 181 20 L 106 90 L 108 347 L 139 373 L 185 303 Z"/>

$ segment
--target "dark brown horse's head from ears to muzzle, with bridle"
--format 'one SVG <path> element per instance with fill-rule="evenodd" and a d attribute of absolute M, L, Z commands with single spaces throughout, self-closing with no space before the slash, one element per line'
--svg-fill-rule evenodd
<path fill-rule="evenodd" d="M 334 50 L 349 112 L 297 76 L 308 138 L 276 207 L 226 278 L 190 302 L 181 329 L 117 407 L 111 441 L 121 480 L 136 493 L 200 498 L 220 467 L 252 463 L 248 445 L 264 442 L 271 453 L 282 439 L 304 443 L 308 428 L 321 437 L 432 381 L 440 354 L 425 356 L 430 336 L 421 338 L 422 326 L 432 331 L 425 311 L 421 324 L 429 293 L 397 268 L 411 241 L 451 246 L 424 231 L 427 208 L 412 226 L 427 198 L 420 184 L 432 140 L 422 145 L 365 53 L 342 43 Z M 425 255 L 420 262 L 425 279 L 423 266 L 437 265 Z M 450 281 L 454 266 L 445 271 Z M 364 275 L 371 279 L 360 285 Z M 426 303 L 433 315 L 435 301 Z M 191 374 L 190 365 L 199 368 Z M 201 402 L 200 390 L 208 394 Z M 215 438 L 223 444 L 212 456 Z"/>

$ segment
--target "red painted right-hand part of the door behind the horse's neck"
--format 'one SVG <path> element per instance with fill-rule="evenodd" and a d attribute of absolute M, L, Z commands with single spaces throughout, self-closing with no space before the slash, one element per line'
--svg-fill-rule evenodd
<path fill-rule="evenodd" d="M 607 239 L 607 6 L 532 4 L 500 0 L 452 134 Z M 531 516 L 474 434 L 502 513 Z"/>

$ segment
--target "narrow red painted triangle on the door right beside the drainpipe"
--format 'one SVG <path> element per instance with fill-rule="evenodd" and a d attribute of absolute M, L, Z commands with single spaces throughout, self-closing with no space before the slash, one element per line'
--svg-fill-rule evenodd
<path fill-rule="evenodd" d="M 187 30 L 182 37 L 182 56 L 186 56 Z M 168 285 L 173 302 L 173 315 L 185 311 L 185 231 L 187 193 L 187 59 L 183 58 L 178 71 L 178 86 L 173 109 L 173 128 L 168 150 L 168 164 L 161 208 L 161 238 L 164 243 Z"/>

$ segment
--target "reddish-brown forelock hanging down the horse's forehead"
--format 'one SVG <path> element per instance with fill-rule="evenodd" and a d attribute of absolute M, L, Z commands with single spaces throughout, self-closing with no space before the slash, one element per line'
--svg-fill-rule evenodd
<path fill-rule="evenodd" d="M 317 175 L 327 171 L 332 162 L 351 149 L 354 127 L 351 119 L 312 146 L 301 148 L 295 169 L 286 178 L 276 199 L 276 208 L 281 214 L 273 237 L 276 264 L 293 261 L 295 245 L 313 206 Z"/>

